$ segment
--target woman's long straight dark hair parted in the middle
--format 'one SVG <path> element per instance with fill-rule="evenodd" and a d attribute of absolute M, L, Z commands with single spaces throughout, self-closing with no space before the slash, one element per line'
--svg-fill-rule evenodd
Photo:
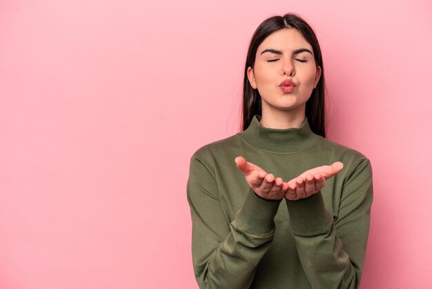
<path fill-rule="evenodd" d="M 246 57 L 246 64 L 244 67 L 244 82 L 243 82 L 243 111 L 242 111 L 242 131 L 248 128 L 251 124 L 253 115 L 262 115 L 261 111 L 261 95 L 257 89 L 253 89 L 251 83 L 248 80 L 248 67 L 255 66 L 255 55 L 259 44 L 271 35 L 271 33 L 282 30 L 284 28 L 295 28 L 302 33 L 304 39 L 311 44 L 313 48 L 313 54 L 315 55 L 315 64 L 320 66 L 322 69 L 320 81 L 317 86 L 313 89 L 311 97 L 306 102 L 306 118 L 311 130 L 317 135 L 326 137 L 326 126 L 325 126 L 325 81 L 324 81 L 324 64 L 322 63 L 322 55 L 320 44 L 318 43 L 315 32 L 311 26 L 309 26 L 302 17 L 295 13 L 287 13 L 282 16 L 270 17 L 259 24 L 257 30 L 255 30 L 251 44 L 249 44 L 248 55 Z"/>

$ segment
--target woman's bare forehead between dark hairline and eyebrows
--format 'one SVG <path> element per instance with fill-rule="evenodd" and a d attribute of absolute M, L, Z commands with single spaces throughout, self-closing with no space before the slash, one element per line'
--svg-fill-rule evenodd
<path fill-rule="evenodd" d="M 258 46 L 257 55 L 264 49 L 273 48 L 277 50 L 295 50 L 298 48 L 308 48 L 312 51 L 311 44 L 304 39 L 302 33 L 295 28 L 286 28 L 277 30 L 271 35 L 268 35 L 264 41 Z"/>

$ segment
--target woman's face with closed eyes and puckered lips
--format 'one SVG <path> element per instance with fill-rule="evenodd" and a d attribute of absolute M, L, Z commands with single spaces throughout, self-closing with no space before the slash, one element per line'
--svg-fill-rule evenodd
<path fill-rule="evenodd" d="M 295 28 L 286 28 L 262 41 L 255 55 L 255 67 L 249 66 L 247 73 L 251 86 L 261 95 L 263 113 L 269 109 L 304 111 L 320 80 L 321 68 L 316 66 L 312 46 L 302 34 Z M 295 88 L 282 91 L 279 84 L 284 80 L 292 80 Z"/>

